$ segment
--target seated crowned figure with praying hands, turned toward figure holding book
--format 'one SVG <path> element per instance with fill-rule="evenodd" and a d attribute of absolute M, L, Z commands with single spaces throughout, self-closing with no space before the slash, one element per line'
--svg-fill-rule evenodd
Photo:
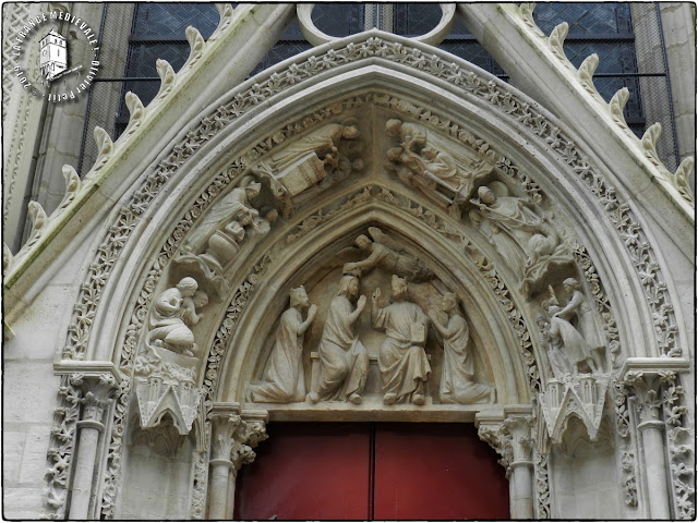
<path fill-rule="evenodd" d="M 366 304 L 366 296 L 361 296 L 353 307 L 352 301 L 358 294 L 359 279 L 345 275 L 337 295 L 329 303 L 317 350 L 322 373 L 317 388 L 308 394 L 311 403 L 330 399 L 361 403 L 369 374 L 369 354 L 354 332 L 354 324 Z"/>

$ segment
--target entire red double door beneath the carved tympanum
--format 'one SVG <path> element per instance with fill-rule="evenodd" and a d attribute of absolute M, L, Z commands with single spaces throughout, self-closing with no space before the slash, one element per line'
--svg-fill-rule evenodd
<path fill-rule="evenodd" d="M 467 424 L 273 423 L 236 520 L 508 519 L 496 453 Z"/>

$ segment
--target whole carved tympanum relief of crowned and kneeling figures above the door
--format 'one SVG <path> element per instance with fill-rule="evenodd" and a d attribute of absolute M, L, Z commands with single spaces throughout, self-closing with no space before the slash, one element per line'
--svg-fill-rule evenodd
<path fill-rule="evenodd" d="M 381 241 L 359 235 L 356 246 L 328 262 L 334 268 L 305 282 L 317 315 L 311 311 L 303 320 L 296 313 L 291 343 L 279 342 L 279 332 L 293 306 L 281 314 L 248 401 L 305 400 L 308 406 L 335 401 L 348 408 L 493 403 L 492 377 L 473 346 L 459 299 L 409 247 L 377 228 L 369 230 Z M 377 252 L 348 262 L 365 256 L 368 246 L 378 246 Z M 423 270 L 416 270 L 417 262 Z"/>

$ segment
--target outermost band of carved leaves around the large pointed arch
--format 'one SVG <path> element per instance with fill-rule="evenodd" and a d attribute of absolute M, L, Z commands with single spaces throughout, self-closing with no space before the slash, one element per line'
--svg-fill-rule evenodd
<path fill-rule="evenodd" d="M 566 155 L 563 156 L 565 161 L 568 165 L 574 166 L 577 174 L 591 187 L 592 193 L 602 198 L 602 202 L 603 198 L 606 198 L 606 210 L 609 211 L 611 219 L 613 220 L 613 217 L 617 215 L 616 227 L 622 226 L 619 227 L 622 230 L 625 230 L 625 228 L 629 228 L 628 230 L 633 232 L 630 236 L 635 239 L 635 241 L 631 244 L 628 244 L 630 254 L 635 254 L 634 247 L 638 242 L 640 242 L 641 253 L 638 248 L 637 252 L 640 253 L 640 255 L 638 256 L 640 257 L 640 259 L 645 259 L 647 255 L 647 257 L 649 258 L 648 263 L 651 264 L 652 260 L 651 257 L 649 257 L 649 255 L 651 254 L 651 247 L 647 241 L 642 241 L 643 239 L 640 235 L 641 230 L 639 229 L 639 226 L 633 221 L 633 215 L 629 206 L 627 204 L 621 204 L 617 200 L 614 191 L 612 188 L 609 190 L 604 186 L 604 182 L 600 179 L 600 177 L 593 172 L 592 168 L 588 163 L 586 163 L 579 153 L 576 151 L 574 144 L 569 142 L 564 135 L 562 135 L 559 130 L 553 131 L 550 127 L 550 124 L 546 123 L 545 117 L 543 114 L 535 114 L 535 110 L 530 105 L 526 102 L 520 104 L 515 95 L 498 90 L 498 88 L 502 88 L 503 86 L 497 85 L 494 81 L 490 81 L 485 84 L 480 78 L 478 78 L 474 73 L 469 73 L 469 75 L 464 74 L 458 70 L 457 66 L 453 66 L 450 69 L 442 69 L 445 64 L 443 63 L 443 61 L 441 61 L 441 59 L 438 59 L 438 57 L 436 57 L 435 60 L 432 59 L 433 57 L 430 59 L 425 59 L 425 57 L 421 54 L 421 51 L 417 52 L 419 51 L 419 49 L 412 53 L 413 59 L 410 59 L 409 56 L 401 54 L 401 44 L 388 45 L 377 37 L 370 37 L 366 41 L 360 44 L 359 46 L 353 46 L 351 48 L 350 46 L 347 46 L 345 49 L 340 49 L 339 52 L 333 50 L 332 57 L 334 57 L 334 60 L 344 58 L 349 61 L 351 61 L 352 59 L 358 60 L 365 57 L 378 57 L 381 56 L 381 53 L 384 53 L 382 58 L 397 57 L 396 60 L 398 62 L 402 61 L 409 66 L 416 68 L 422 72 L 426 71 L 435 74 L 436 77 L 441 77 L 442 80 L 445 80 L 445 82 L 465 86 L 464 88 L 467 92 L 472 93 L 477 97 L 480 97 L 480 99 L 484 99 L 489 104 L 492 104 L 494 107 L 498 107 L 500 109 L 504 108 L 504 112 L 509 114 L 510 118 L 516 118 L 519 123 L 533 129 L 534 134 L 539 134 L 539 136 L 546 136 L 546 141 L 552 148 L 554 148 L 555 150 L 559 150 L 563 155 Z M 340 54 L 341 52 L 345 53 L 344 57 Z M 362 53 L 365 54 L 362 56 Z M 330 53 L 328 52 L 327 57 L 329 56 Z M 329 60 L 328 63 L 332 64 L 333 61 Z M 301 65 L 301 68 L 299 68 L 298 65 L 296 68 L 290 68 L 290 73 L 287 72 L 288 77 L 292 77 L 293 75 L 296 75 L 297 81 L 300 81 L 303 75 L 312 76 L 315 73 L 309 73 L 309 71 L 313 71 L 316 68 L 316 60 L 313 61 L 309 59 Z M 277 77 L 274 77 L 274 74 L 277 73 L 273 73 L 270 75 L 272 83 L 267 81 L 265 87 L 255 84 L 248 92 L 246 98 L 244 96 L 236 97 L 234 100 L 228 104 L 228 106 L 226 106 L 225 108 L 224 106 L 220 106 L 220 108 L 218 109 L 219 112 L 217 114 L 212 114 L 208 121 L 215 122 L 216 117 L 218 117 L 219 120 L 233 120 L 236 117 L 245 112 L 246 109 L 250 109 L 252 107 L 250 104 L 257 105 L 260 100 L 265 98 L 265 96 L 279 93 L 281 90 L 279 87 L 281 85 L 279 83 L 280 77 L 278 74 Z M 286 81 L 288 82 L 288 78 Z M 296 82 L 296 80 L 293 82 Z M 274 85 L 274 83 L 276 83 L 276 86 Z M 265 92 L 264 89 L 268 89 L 268 92 Z M 506 87 L 504 87 L 504 89 L 506 89 Z M 265 93 L 268 94 L 265 95 Z M 508 112 L 506 107 L 510 109 Z M 538 133 L 535 132 L 535 129 L 539 130 Z M 108 236 L 103 243 L 103 247 L 100 247 L 99 250 L 100 260 L 105 262 L 106 264 L 95 265 L 94 272 L 92 272 L 89 277 L 89 283 L 81 293 L 81 304 L 76 307 L 76 311 L 82 314 L 82 318 L 71 327 L 71 337 L 69 343 L 67 344 L 67 352 L 63 353 L 64 357 L 80 358 L 81 355 L 84 357 L 92 328 L 91 320 L 88 320 L 87 318 L 94 315 L 94 312 L 97 309 L 100 289 L 105 285 L 106 279 L 108 278 L 111 267 L 113 267 L 113 263 L 118 258 L 123 244 L 127 242 L 129 235 L 134 230 L 136 223 L 140 221 L 141 216 L 145 212 L 149 204 L 155 199 L 157 193 L 163 188 L 167 180 L 171 178 L 174 170 L 179 166 L 182 166 L 185 160 L 190 158 L 193 153 L 202 146 L 203 143 L 205 143 L 207 139 L 210 139 L 217 133 L 217 131 L 218 130 L 216 129 L 214 123 L 208 125 L 207 129 L 204 129 L 204 126 L 200 127 L 197 132 L 190 131 L 190 133 L 188 133 L 186 139 L 184 139 L 183 143 L 176 147 L 170 157 L 171 159 L 167 160 L 170 162 L 169 166 L 165 162 L 161 163 L 160 170 L 152 173 L 146 183 L 141 186 L 140 191 L 136 191 L 134 198 L 130 204 L 131 207 L 124 207 L 124 209 L 122 209 L 116 229 L 112 228 L 109 231 Z M 232 177 L 230 179 L 232 179 Z M 212 196 L 214 195 L 215 194 L 212 194 Z M 192 216 L 192 220 L 195 217 Z M 167 259 L 164 260 L 167 262 Z M 100 265 L 104 265 L 104 267 L 101 267 Z M 261 265 L 264 265 L 264 262 Z M 657 284 L 657 279 L 661 280 L 661 276 L 659 275 L 659 265 L 654 264 L 654 266 L 655 268 L 648 272 L 650 275 L 648 281 L 652 282 L 652 288 L 660 295 L 660 302 L 663 302 L 661 303 L 662 316 L 660 320 L 663 321 L 664 325 L 666 325 L 667 321 L 672 321 L 673 319 L 672 308 L 671 305 L 666 306 L 666 303 L 669 303 L 669 295 L 665 288 L 660 289 L 661 285 Z M 160 268 L 161 267 L 164 267 L 164 265 L 161 265 Z M 640 268 L 642 268 L 642 266 L 640 266 Z M 250 285 L 245 290 L 250 291 Z M 662 346 L 663 343 L 663 346 L 665 348 L 665 351 L 667 353 L 671 353 L 675 350 L 681 351 L 675 346 L 675 330 L 671 331 L 671 329 L 667 329 L 666 336 L 669 340 L 660 342 L 660 346 Z M 681 354 L 681 352 L 678 352 L 678 354 Z"/>

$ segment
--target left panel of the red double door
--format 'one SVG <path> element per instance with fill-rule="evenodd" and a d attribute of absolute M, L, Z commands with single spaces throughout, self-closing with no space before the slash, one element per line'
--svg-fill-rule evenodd
<path fill-rule="evenodd" d="M 369 424 L 273 423 L 238 476 L 236 520 L 368 520 Z"/>

